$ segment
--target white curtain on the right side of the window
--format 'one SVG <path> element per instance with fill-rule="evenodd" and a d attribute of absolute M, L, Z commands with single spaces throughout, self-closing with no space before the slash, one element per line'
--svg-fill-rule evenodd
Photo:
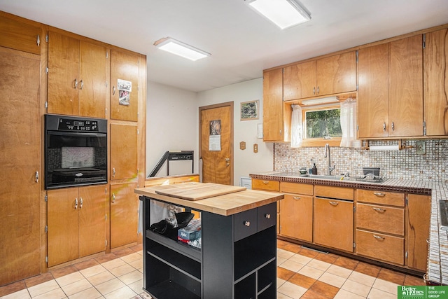
<path fill-rule="evenodd" d="M 360 148 L 356 139 L 356 100 L 349 97 L 341 103 L 341 145 L 347 148 Z"/>

